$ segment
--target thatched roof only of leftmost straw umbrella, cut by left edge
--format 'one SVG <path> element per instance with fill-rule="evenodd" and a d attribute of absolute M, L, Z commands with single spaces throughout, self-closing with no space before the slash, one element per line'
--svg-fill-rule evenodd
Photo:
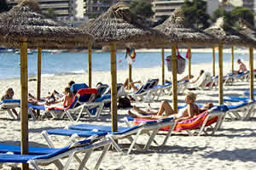
<path fill-rule="evenodd" d="M 67 47 L 67 44 L 86 47 L 94 41 L 85 31 L 47 18 L 34 0 L 24 0 L 9 12 L 0 14 L 0 40 L 6 46 L 19 48 L 21 40 L 26 39 L 31 48 L 36 48 L 37 44 L 43 46 L 43 42 L 51 42 L 52 48 Z M 49 44 L 41 48 L 47 47 Z"/>

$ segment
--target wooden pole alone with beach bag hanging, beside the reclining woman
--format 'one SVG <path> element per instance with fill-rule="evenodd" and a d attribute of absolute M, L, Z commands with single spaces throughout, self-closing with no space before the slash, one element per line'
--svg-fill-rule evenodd
<path fill-rule="evenodd" d="M 173 110 L 177 113 L 177 51 L 176 45 L 172 45 L 172 103 Z"/>

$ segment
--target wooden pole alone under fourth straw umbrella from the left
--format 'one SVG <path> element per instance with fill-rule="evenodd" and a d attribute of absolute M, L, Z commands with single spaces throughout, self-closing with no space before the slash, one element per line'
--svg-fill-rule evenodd
<path fill-rule="evenodd" d="M 218 44 L 218 104 L 223 105 L 223 44 Z"/>

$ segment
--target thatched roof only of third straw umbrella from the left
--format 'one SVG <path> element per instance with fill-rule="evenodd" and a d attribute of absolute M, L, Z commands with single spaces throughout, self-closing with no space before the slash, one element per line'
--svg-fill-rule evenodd
<path fill-rule="evenodd" d="M 166 35 L 176 34 L 177 44 L 186 45 L 210 45 L 218 40 L 204 31 L 184 26 L 184 13 L 182 8 L 176 8 L 170 17 L 154 29 L 164 32 Z"/>

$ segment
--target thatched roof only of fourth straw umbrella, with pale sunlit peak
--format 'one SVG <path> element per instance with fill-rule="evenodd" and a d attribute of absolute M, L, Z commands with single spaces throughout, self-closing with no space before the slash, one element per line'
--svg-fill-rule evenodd
<path fill-rule="evenodd" d="M 240 45 L 240 46 L 253 46 L 255 42 L 252 38 L 247 37 L 245 34 L 236 31 L 235 29 L 227 26 L 224 23 L 224 18 L 218 18 L 218 20 L 213 24 L 213 26 L 205 30 L 208 34 L 217 37 L 221 43 L 230 45 Z"/>

